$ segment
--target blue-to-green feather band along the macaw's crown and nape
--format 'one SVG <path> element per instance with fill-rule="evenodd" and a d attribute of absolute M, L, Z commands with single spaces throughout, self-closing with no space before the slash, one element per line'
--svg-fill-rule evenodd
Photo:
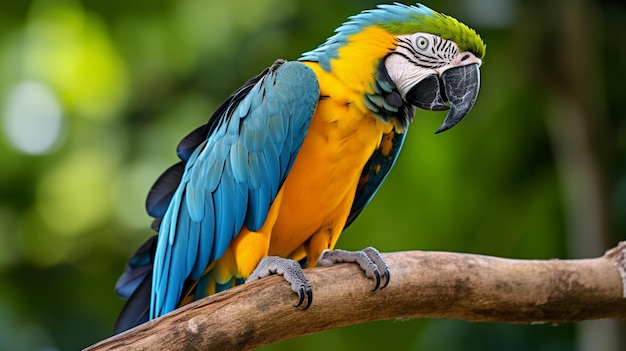
<path fill-rule="evenodd" d="M 363 11 L 349 19 L 324 44 L 302 54 L 300 60 L 319 62 L 330 71 L 330 60 L 337 58 L 337 50 L 347 43 L 348 37 L 369 26 L 378 26 L 393 35 L 431 33 L 455 42 L 461 51 L 470 51 L 478 58 L 485 56 L 486 45 L 476 31 L 422 4 L 378 5 L 376 9 Z"/>

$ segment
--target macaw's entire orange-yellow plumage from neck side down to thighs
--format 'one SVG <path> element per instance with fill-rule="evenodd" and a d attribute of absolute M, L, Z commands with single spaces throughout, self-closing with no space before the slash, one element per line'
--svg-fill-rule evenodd
<path fill-rule="evenodd" d="M 323 250 L 335 246 L 361 171 L 393 128 L 367 109 L 363 97 L 372 93 L 377 62 L 394 46 L 393 36 L 371 27 L 349 38 L 340 59 L 331 61 L 332 73 L 305 62 L 318 77 L 320 101 L 302 148 L 265 224 L 257 232 L 242 229 L 216 263 L 218 276 L 245 278 L 267 255 L 307 256 L 315 265 Z"/>

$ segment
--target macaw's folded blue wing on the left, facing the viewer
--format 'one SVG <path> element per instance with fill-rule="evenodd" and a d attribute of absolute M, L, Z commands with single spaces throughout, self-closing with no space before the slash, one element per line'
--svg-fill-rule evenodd
<path fill-rule="evenodd" d="M 163 217 L 151 318 L 176 308 L 185 281 L 201 279 L 244 225 L 250 230 L 263 225 L 318 98 L 312 70 L 277 61 L 179 143 L 184 168 L 181 163 L 159 178 L 147 201 L 149 213 Z"/>

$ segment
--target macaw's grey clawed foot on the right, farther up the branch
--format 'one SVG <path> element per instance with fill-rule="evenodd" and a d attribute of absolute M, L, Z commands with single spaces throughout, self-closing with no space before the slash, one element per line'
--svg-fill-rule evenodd
<path fill-rule="evenodd" d="M 317 265 L 332 266 L 341 262 L 357 263 L 368 278 L 374 279 L 372 291 L 384 289 L 389 284 L 389 266 L 373 247 L 361 251 L 325 250 L 317 260 Z"/>

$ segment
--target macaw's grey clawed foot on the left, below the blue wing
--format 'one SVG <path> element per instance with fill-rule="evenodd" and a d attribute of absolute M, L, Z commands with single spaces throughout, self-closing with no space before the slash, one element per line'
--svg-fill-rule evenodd
<path fill-rule="evenodd" d="M 281 275 L 289 284 L 291 284 L 291 290 L 298 294 L 298 302 L 293 305 L 294 307 L 303 306 L 303 309 L 306 310 L 309 306 L 311 306 L 311 302 L 313 302 L 313 290 L 311 290 L 311 283 L 309 283 L 309 280 L 304 275 L 300 264 L 294 260 L 278 256 L 263 257 L 252 274 L 248 277 L 248 279 L 246 279 L 246 283 L 255 279 L 267 277 L 271 274 Z M 305 298 L 307 301 L 306 304 L 303 305 Z"/>

